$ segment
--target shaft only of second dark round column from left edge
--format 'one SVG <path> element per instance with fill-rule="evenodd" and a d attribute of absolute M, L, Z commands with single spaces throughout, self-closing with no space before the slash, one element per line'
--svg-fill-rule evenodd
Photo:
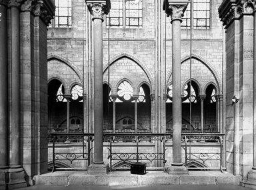
<path fill-rule="evenodd" d="M 19 9 L 11 6 L 11 167 L 20 167 Z"/>

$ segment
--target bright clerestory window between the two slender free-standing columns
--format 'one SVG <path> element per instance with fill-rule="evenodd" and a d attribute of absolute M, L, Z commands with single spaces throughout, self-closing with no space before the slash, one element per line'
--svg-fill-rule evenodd
<path fill-rule="evenodd" d="M 142 27 L 142 0 L 111 0 L 108 27 Z"/>

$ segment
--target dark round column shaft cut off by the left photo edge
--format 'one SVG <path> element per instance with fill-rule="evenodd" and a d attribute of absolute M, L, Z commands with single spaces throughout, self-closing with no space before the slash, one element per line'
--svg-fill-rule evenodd
<path fill-rule="evenodd" d="M 8 165 L 7 7 L 0 3 L 0 169 Z"/>

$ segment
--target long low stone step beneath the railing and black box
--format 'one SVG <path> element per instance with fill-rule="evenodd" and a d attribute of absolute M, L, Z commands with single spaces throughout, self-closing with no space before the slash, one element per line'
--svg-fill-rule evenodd
<path fill-rule="evenodd" d="M 240 185 L 241 177 L 227 172 L 189 171 L 189 175 L 168 175 L 163 171 L 147 171 L 145 175 L 130 171 L 113 171 L 91 175 L 87 171 L 55 171 L 36 175 L 35 185 Z"/>

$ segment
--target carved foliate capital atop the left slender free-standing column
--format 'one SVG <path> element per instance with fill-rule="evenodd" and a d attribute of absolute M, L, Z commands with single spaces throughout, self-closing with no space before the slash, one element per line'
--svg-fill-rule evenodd
<path fill-rule="evenodd" d="M 97 2 L 97 1 L 86 1 L 87 7 L 91 13 L 91 15 L 93 15 L 92 20 L 94 19 L 101 19 L 102 21 L 104 21 L 103 17 L 104 15 L 107 15 L 109 13 L 109 5 L 107 1 L 101 1 L 101 2 Z"/>

